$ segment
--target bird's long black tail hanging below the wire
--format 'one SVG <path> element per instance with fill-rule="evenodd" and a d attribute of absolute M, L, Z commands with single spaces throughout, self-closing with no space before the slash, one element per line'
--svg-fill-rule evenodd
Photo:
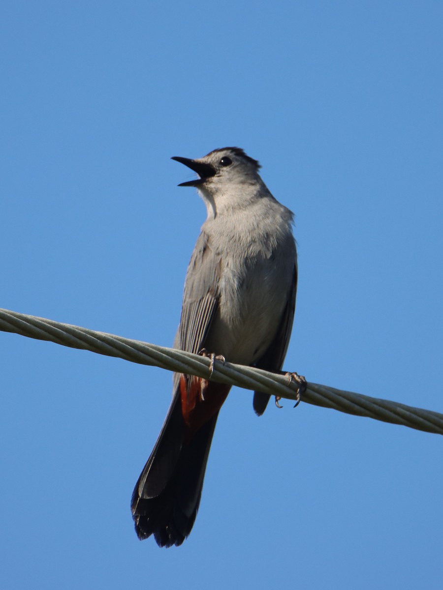
<path fill-rule="evenodd" d="M 180 393 L 176 392 L 132 494 L 139 539 L 154 535 L 160 547 L 171 547 L 181 545 L 191 532 L 217 416 L 218 412 L 187 440 Z"/>

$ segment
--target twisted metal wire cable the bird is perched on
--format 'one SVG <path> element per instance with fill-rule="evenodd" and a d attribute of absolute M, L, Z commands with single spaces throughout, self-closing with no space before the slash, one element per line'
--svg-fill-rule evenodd
<path fill-rule="evenodd" d="M 0 309 L 0 330 L 38 340 L 49 340 L 71 348 L 90 350 L 101 355 L 115 356 L 141 365 L 158 366 L 206 379 L 210 377 L 213 381 L 255 389 L 286 399 L 297 399 L 297 385 L 290 382 L 285 375 L 216 360 L 214 372 L 210 376 L 210 359 L 203 356 L 105 332 L 96 332 L 96 330 L 80 326 L 54 322 L 44 317 Z M 443 434 L 443 414 L 386 399 L 341 391 L 326 385 L 318 385 L 318 383 L 308 383 L 307 390 L 302 395 L 302 401 L 347 414 Z"/>

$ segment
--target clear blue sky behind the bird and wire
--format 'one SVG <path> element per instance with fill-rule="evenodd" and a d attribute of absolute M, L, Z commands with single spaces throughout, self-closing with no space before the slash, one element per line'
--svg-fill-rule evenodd
<path fill-rule="evenodd" d="M 443 411 L 437 1 L 2 3 L 0 306 L 169 346 L 238 145 L 297 215 L 285 368 Z M 228 359 L 229 360 L 229 359 Z M 442 439 L 235 389 L 180 548 L 129 501 L 171 373 L 0 333 L 2 588 L 437 588 Z"/>

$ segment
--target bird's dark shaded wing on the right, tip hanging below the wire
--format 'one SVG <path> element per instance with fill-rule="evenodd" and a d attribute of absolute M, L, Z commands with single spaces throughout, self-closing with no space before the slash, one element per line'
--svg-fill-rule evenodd
<path fill-rule="evenodd" d="M 297 296 L 297 261 L 294 266 L 294 275 L 291 283 L 291 290 L 289 291 L 288 301 L 282 314 L 276 335 L 274 336 L 271 346 L 266 350 L 265 354 L 255 363 L 259 369 L 265 371 L 280 371 L 285 360 L 286 352 L 289 346 L 289 339 L 291 338 L 292 323 L 294 322 L 295 313 L 295 297 Z M 260 391 L 254 392 L 253 407 L 255 413 L 261 416 L 268 405 L 269 394 L 263 394 Z"/>

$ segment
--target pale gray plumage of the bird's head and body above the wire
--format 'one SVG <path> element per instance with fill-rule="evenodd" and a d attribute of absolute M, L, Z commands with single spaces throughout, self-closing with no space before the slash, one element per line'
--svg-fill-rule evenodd
<path fill-rule="evenodd" d="M 221 166 L 223 158 L 232 165 Z M 177 348 L 206 348 L 233 363 L 279 370 L 297 292 L 293 214 L 272 196 L 259 163 L 243 150 L 217 149 L 194 162 L 197 172 L 202 163 L 217 173 L 203 183 L 184 183 L 197 186 L 207 219 L 188 267 Z M 258 397 L 262 414 L 269 396 Z"/>

